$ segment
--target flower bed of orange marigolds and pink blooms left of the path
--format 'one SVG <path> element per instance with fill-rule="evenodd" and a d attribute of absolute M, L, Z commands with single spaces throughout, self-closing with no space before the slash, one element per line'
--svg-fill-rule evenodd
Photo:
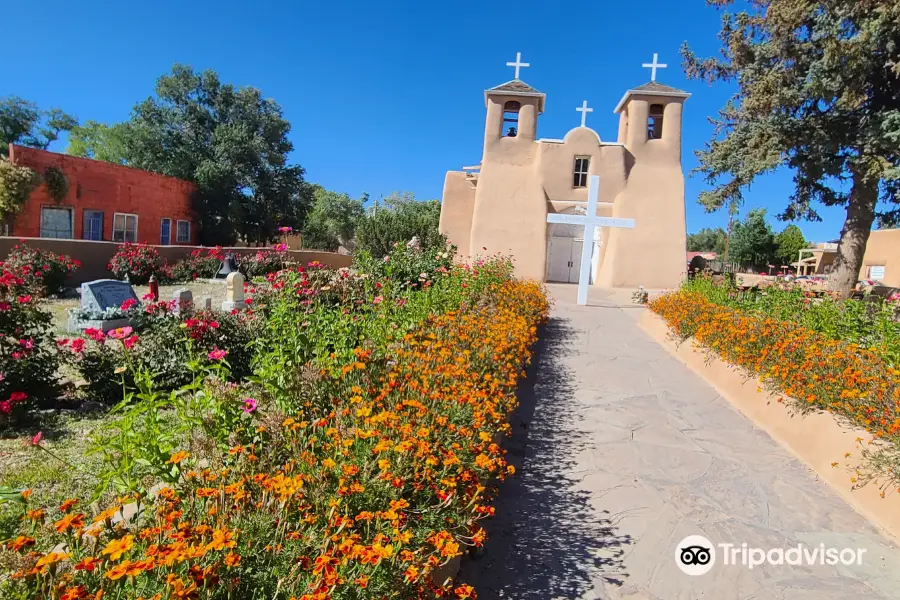
<path fill-rule="evenodd" d="M 90 438 L 89 462 L 23 432 L 38 462 L 85 481 L 5 474 L 34 487 L 4 508 L 23 520 L 0 595 L 474 598 L 447 577 L 512 473 L 496 442 L 548 303 L 506 261 L 451 261 L 401 246 L 356 274 L 273 273 L 253 296 L 250 377 L 232 373 L 238 346 L 202 345 L 215 315 L 167 334 L 189 352 L 174 388 L 136 358 L 151 333 L 79 342 L 125 396 L 70 433 Z M 138 510 L 122 521 L 125 504 Z"/>

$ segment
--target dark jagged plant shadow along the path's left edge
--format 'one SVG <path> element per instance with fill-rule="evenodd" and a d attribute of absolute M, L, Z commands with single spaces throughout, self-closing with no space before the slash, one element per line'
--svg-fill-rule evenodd
<path fill-rule="evenodd" d="M 464 561 L 459 576 L 485 599 L 603 597 L 604 584 L 627 577 L 621 559 L 630 537 L 616 535 L 611 515 L 578 489 L 586 472 L 577 456 L 591 433 L 565 366 L 577 332 L 551 318 L 541 333 L 505 444 L 517 473 L 501 485 L 496 516 L 482 523 L 483 552 Z"/>

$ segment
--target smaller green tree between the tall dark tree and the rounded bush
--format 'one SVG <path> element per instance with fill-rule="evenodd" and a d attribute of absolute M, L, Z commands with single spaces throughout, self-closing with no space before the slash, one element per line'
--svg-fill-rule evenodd
<path fill-rule="evenodd" d="M 303 245 L 331 251 L 340 246 L 352 250 L 357 224 L 365 214 L 366 196 L 356 200 L 347 194 L 330 192 L 321 185 L 310 187 L 313 201 L 303 227 Z"/>

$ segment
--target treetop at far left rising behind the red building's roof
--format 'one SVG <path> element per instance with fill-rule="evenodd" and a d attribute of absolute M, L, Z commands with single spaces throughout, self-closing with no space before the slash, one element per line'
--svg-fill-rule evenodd
<path fill-rule="evenodd" d="M 10 144 L 46 150 L 61 132 L 77 124 L 75 117 L 58 108 L 40 110 L 18 96 L 0 98 L 0 156 L 8 154 Z"/>

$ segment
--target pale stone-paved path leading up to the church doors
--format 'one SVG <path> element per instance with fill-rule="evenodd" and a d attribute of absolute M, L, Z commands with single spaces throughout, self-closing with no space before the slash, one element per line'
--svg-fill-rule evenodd
<path fill-rule="evenodd" d="M 900 598 L 900 550 L 639 329 L 628 295 L 552 286 L 480 558 L 482 600 Z M 722 565 L 689 576 L 688 535 L 765 550 L 865 548 L 860 566 Z"/>

